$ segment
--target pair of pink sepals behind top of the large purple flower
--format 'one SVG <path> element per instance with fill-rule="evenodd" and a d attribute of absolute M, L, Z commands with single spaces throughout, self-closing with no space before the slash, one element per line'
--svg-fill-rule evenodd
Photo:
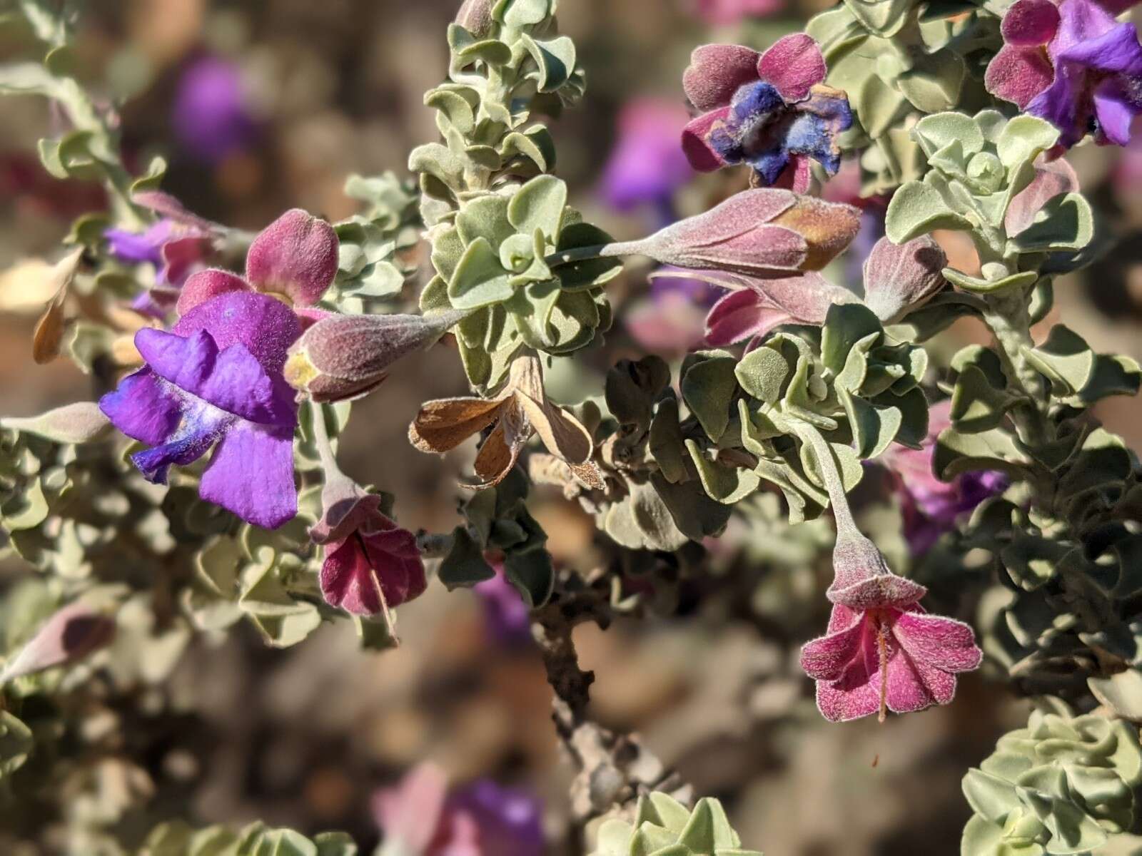
<path fill-rule="evenodd" d="M 185 315 L 225 293 L 262 292 L 296 307 L 301 325 L 329 313 L 314 308 L 337 275 L 338 241 L 333 227 L 299 208 L 287 211 L 254 239 L 246 257 L 246 278 L 208 268 L 191 276 L 178 296 Z"/>

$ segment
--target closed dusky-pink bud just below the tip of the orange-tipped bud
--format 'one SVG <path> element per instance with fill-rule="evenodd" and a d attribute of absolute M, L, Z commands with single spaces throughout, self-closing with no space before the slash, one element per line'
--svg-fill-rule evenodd
<path fill-rule="evenodd" d="M 943 288 L 947 264 L 928 235 L 902 244 L 882 237 L 864 261 L 864 305 L 885 324 L 900 321 Z"/>

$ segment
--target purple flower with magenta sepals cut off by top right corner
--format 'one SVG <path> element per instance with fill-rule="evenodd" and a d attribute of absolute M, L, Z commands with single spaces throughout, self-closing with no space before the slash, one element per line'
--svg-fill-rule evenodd
<path fill-rule="evenodd" d="M 1049 121 L 1064 147 L 1087 134 L 1100 145 L 1129 143 L 1131 121 L 1142 113 L 1134 24 L 1095 0 L 1018 0 L 1002 32 L 1004 47 L 984 78 L 992 95 Z"/>

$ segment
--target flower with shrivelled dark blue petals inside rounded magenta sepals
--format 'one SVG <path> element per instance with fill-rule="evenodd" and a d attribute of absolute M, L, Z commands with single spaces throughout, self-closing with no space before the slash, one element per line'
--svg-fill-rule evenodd
<path fill-rule="evenodd" d="M 683 87 L 701 111 L 682 136 L 691 165 L 703 172 L 748 163 L 769 186 L 809 188 L 809 161 L 841 168 L 838 135 L 852 124 L 849 98 L 823 84 L 825 57 L 804 33 L 764 54 L 737 45 L 694 50 Z"/>

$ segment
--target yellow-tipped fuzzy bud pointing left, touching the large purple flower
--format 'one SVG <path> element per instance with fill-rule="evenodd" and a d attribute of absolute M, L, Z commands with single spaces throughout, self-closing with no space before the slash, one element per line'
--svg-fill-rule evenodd
<path fill-rule="evenodd" d="M 315 402 L 356 398 L 385 380 L 397 360 L 440 341 L 464 315 L 332 315 L 290 348 L 286 380 Z"/>

